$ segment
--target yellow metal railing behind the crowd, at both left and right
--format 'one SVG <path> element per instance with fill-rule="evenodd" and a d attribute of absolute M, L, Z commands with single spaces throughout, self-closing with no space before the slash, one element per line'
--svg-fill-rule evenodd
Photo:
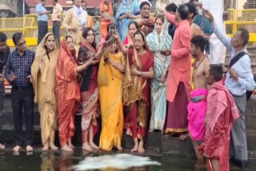
<path fill-rule="evenodd" d="M 226 34 L 230 37 L 238 30 L 245 27 L 250 32 L 250 41 L 256 42 L 256 9 L 254 10 L 234 10 L 230 9 L 228 21 L 226 21 Z M 100 18 L 99 16 L 97 16 Z M 50 18 L 50 15 L 49 15 Z M 64 14 L 62 14 L 62 21 Z M 48 30 L 52 30 L 52 22 L 48 22 Z M 37 46 L 38 38 L 38 17 L 36 14 L 26 14 L 24 18 L 0 18 L 0 31 L 7 35 L 7 44 L 14 47 L 11 38 L 15 32 L 22 32 L 26 38 L 27 46 Z M 66 35 L 66 32 L 61 26 L 61 37 Z"/>

